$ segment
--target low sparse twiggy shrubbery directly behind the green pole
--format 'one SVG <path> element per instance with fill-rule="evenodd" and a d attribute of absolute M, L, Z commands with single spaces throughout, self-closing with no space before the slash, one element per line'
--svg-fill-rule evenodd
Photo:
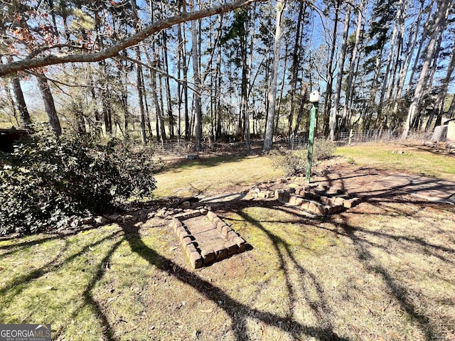
<path fill-rule="evenodd" d="M 313 145 L 312 164 L 316 166 L 319 161 L 331 158 L 335 153 L 335 143 L 328 139 L 315 139 Z M 299 149 L 289 151 L 286 149 L 274 150 L 271 153 L 272 166 L 284 171 L 287 176 L 306 174 L 308 151 Z"/>

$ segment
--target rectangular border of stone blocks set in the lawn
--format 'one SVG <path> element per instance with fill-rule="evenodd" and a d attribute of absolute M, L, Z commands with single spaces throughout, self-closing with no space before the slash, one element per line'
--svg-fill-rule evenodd
<path fill-rule="evenodd" d="M 222 248 L 201 251 L 198 248 L 196 237 L 191 234 L 191 231 L 184 224 L 185 220 L 203 215 L 208 217 L 218 232 L 225 238 L 226 242 Z M 169 225 L 173 228 L 174 232 L 176 232 L 178 239 L 180 239 L 182 247 L 186 256 L 188 256 L 193 269 L 201 268 L 204 265 L 212 264 L 215 261 L 220 261 L 232 256 L 232 254 L 245 251 L 245 239 L 240 237 L 240 234 L 223 222 L 218 215 L 206 208 L 191 210 L 175 215 Z"/>

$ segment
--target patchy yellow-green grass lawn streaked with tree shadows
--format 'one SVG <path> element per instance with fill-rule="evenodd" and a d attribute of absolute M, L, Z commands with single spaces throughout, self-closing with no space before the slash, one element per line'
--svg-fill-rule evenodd
<path fill-rule="evenodd" d="M 374 185 L 382 171 L 455 180 L 454 158 L 396 145 L 337 154 L 315 181 L 365 202 L 329 217 L 274 200 L 217 208 L 251 248 L 200 270 L 159 217 L 0 239 L 0 321 L 51 323 L 53 340 L 455 340 L 455 207 Z M 156 197 L 245 190 L 282 175 L 270 165 L 169 166 Z"/>

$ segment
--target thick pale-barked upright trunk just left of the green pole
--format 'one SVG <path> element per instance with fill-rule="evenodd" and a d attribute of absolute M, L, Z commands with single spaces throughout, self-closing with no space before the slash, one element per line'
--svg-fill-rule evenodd
<path fill-rule="evenodd" d="M 265 127 L 265 138 L 264 138 L 264 151 L 272 149 L 273 144 L 273 125 L 275 117 L 275 104 L 277 102 L 277 78 L 278 78 L 278 67 L 279 67 L 279 52 L 282 43 L 283 33 L 283 14 L 284 7 L 286 6 L 286 0 L 277 2 L 277 26 L 275 28 L 275 43 L 274 43 L 274 54 L 272 70 L 270 72 L 270 85 L 267 94 L 267 102 L 269 110 L 267 112 L 267 125 Z"/>

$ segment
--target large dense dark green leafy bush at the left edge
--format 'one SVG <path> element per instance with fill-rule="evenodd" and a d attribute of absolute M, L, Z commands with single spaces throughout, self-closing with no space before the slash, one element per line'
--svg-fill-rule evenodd
<path fill-rule="evenodd" d="M 56 137 L 43 131 L 0 163 L 0 234 L 30 234 L 71 216 L 108 212 L 129 197 L 149 196 L 159 168 L 151 153 L 119 140 Z"/>

